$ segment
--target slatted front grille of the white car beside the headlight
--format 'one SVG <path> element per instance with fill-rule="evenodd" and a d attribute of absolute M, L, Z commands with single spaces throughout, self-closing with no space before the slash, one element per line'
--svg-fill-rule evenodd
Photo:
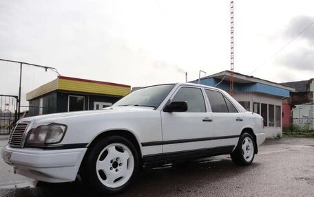
<path fill-rule="evenodd" d="M 28 123 L 20 123 L 14 127 L 9 137 L 8 143 L 10 144 L 10 146 L 18 148 L 22 147 L 23 136 L 26 131 L 26 128 L 28 128 Z"/>

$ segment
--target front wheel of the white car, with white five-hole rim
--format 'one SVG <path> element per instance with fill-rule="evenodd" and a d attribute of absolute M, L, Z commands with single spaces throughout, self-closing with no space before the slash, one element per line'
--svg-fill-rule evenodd
<path fill-rule="evenodd" d="M 127 188 L 137 172 L 136 148 L 125 137 L 111 136 L 97 141 L 88 151 L 83 181 L 100 194 L 117 194 Z"/>

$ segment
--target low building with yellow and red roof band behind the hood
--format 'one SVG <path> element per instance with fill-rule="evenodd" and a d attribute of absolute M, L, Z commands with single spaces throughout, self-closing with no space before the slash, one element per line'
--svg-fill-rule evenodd
<path fill-rule="evenodd" d="M 26 94 L 29 116 L 68 111 L 98 110 L 111 106 L 131 91 L 131 86 L 58 76 Z"/>

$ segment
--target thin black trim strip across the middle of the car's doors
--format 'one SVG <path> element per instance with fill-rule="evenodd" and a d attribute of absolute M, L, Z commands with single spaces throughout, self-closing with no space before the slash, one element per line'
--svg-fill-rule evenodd
<path fill-rule="evenodd" d="M 187 142 L 195 142 L 195 141 L 209 141 L 215 139 L 229 139 L 240 137 L 240 135 L 227 135 L 227 136 L 220 136 L 220 137 L 202 137 L 202 138 L 194 138 L 194 139 L 176 139 L 176 140 L 169 140 L 169 141 L 150 141 L 150 142 L 143 142 L 141 143 L 142 146 L 158 146 L 158 145 L 166 145 L 166 144 L 173 144 L 173 143 L 187 143 Z"/>

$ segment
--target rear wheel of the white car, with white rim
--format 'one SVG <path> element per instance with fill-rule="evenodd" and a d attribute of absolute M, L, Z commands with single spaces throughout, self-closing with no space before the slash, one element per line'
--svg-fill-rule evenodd
<path fill-rule="evenodd" d="M 244 132 L 238 141 L 238 145 L 231 153 L 233 163 L 237 165 L 250 165 L 255 156 L 255 141 L 253 137 Z"/>

